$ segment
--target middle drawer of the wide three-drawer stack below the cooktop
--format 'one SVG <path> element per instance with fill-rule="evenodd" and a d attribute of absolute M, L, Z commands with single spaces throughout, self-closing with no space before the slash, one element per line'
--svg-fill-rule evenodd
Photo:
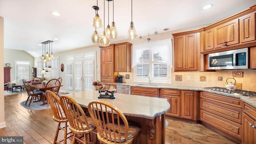
<path fill-rule="evenodd" d="M 200 98 L 200 108 L 233 122 L 242 124 L 242 109 Z"/>

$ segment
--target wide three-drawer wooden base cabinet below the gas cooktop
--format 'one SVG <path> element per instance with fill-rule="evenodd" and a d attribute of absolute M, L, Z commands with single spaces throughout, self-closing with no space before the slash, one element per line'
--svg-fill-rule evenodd
<path fill-rule="evenodd" d="M 200 121 L 228 138 L 242 142 L 242 101 L 239 98 L 200 92 Z"/>

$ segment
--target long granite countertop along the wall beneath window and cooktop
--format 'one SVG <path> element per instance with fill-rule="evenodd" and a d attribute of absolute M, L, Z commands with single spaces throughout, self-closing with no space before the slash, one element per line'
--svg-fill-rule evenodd
<path fill-rule="evenodd" d="M 136 86 L 136 87 L 146 87 L 146 88 L 170 88 L 176 90 L 194 90 L 194 91 L 202 91 L 202 92 L 209 92 L 212 94 L 220 94 L 223 96 L 230 96 L 233 98 L 240 98 L 240 100 L 250 104 L 254 108 L 256 108 L 256 97 L 248 98 L 247 96 L 240 96 L 236 94 L 228 94 L 224 92 L 216 92 L 212 90 L 205 90 L 203 87 L 199 86 L 177 86 L 172 84 L 151 84 L 148 85 L 146 83 L 106 83 L 106 84 L 114 84 L 114 85 L 125 85 L 125 86 Z"/>

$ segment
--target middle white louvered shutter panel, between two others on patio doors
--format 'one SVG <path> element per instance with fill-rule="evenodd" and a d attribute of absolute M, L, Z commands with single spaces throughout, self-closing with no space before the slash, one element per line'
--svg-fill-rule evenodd
<path fill-rule="evenodd" d="M 82 90 L 82 61 L 74 62 L 74 88 L 75 91 Z"/>

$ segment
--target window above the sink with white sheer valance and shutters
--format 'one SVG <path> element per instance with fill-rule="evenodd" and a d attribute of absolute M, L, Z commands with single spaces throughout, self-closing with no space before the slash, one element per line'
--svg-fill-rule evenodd
<path fill-rule="evenodd" d="M 133 46 L 134 82 L 171 83 L 171 40 Z"/>

